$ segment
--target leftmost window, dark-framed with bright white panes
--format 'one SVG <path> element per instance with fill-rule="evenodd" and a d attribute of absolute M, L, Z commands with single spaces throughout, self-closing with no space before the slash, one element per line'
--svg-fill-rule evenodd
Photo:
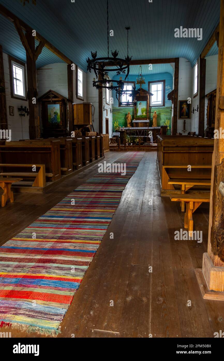
<path fill-rule="evenodd" d="M 23 62 L 9 56 L 11 96 L 26 99 L 26 68 Z"/>

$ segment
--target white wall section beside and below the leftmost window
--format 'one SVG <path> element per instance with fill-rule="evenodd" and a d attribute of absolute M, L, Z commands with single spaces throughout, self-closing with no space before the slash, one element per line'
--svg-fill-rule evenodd
<path fill-rule="evenodd" d="M 28 101 L 11 98 L 10 77 L 9 77 L 9 59 L 8 54 L 3 53 L 3 66 L 5 76 L 5 94 L 6 108 L 8 118 L 8 129 L 11 129 L 12 140 L 29 139 L 29 116 L 20 117 L 18 108 L 22 105 L 28 106 Z M 27 79 L 27 75 L 26 75 Z M 9 115 L 9 106 L 14 106 L 14 116 Z M 22 120 L 22 123 L 21 123 Z"/>

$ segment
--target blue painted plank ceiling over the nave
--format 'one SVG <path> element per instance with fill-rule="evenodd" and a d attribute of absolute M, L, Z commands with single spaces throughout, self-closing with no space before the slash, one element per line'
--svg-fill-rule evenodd
<path fill-rule="evenodd" d="M 0 0 L 10 11 L 39 32 L 86 71 L 91 50 L 107 54 L 106 0 Z M 130 26 L 129 55 L 133 59 L 187 58 L 193 65 L 219 23 L 220 0 L 109 0 L 110 49 L 127 53 L 125 26 Z M 203 38 L 175 38 L 174 29 L 202 28 Z M 25 52 L 12 24 L 0 18 L 0 44 L 5 52 L 25 60 Z M 217 52 L 217 49 L 212 50 Z M 214 53 L 210 54 L 214 55 Z M 56 59 L 44 48 L 37 67 Z M 136 73 L 135 73 L 136 74 Z"/>

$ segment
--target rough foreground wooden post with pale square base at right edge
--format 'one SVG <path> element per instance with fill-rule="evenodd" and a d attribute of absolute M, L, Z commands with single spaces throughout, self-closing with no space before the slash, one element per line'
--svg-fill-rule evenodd
<path fill-rule="evenodd" d="M 224 0 L 220 0 L 218 79 L 216 95 L 215 129 L 224 129 Z M 208 251 L 203 255 L 202 273 L 208 292 L 223 292 L 224 300 L 224 196 L 219 184 L 224 180 L 224 139 L 214 140 L 212 156 L 211 195 L 209 213 Z M 200 271 L 200 270 L 199 270 Z M 197 279 L 201 279 L 196 269 Z M 199 281 L 200 282 L 200 281 Z M 202 281 L 201 281 L 202 282 Z M 200 287 L 202 290 L 202 288 Z M 213 299 L 217 299 L 212 292 Z M 210 292 L 211 293 L 211 292 Z M 206 297 L 206 292 L 204 293 Z M 220 299 L 220 298 L 219 298 Z"/>

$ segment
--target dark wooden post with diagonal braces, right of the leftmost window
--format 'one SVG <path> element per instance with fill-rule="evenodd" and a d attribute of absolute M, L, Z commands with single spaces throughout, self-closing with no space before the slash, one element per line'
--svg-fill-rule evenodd
<path fill-rule="evenodd" d="M 27 55 L 27 98 L 29 103 L 29 139 L 40 138 L 40 125 L 38 123 L 37 112 L 37 82 L 36 82 L 36 62 L 35 62 L 35 37 L 32 32 L 26 32 L 26 39 L 30 51 L 26 48 Z M 30 56 L 32 53 L 32 58 Z M 33 104 L 33 98 L 36 98 L 36 104 Z"/>

